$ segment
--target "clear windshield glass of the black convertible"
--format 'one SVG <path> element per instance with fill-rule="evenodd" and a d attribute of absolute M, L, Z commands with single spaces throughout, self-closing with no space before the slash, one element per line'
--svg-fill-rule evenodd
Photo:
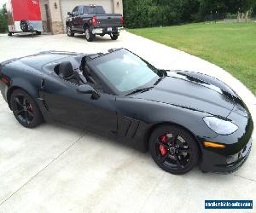
<path fill-rule="evenodd" d="M 126 49 L 117 50 L 93 61 L 97 72 L 120 93 L 152 87 L 157 79 L 157 69 Z"/>

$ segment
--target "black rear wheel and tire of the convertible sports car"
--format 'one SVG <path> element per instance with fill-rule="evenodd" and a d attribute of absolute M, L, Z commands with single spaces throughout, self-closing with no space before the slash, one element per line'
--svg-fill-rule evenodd
<path fill-rule="evenodd" d="M 34 128 L 42 124 L 44 119 L 38 105 L 22 89 L 16 89 L 10 97 L 10 105 L 15 118 L 26 128 Z"/>

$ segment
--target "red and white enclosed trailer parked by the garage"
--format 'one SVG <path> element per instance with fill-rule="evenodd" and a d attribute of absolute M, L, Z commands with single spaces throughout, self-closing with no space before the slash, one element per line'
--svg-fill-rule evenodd
<path fill-rule="evenodd" d="M 9 36 L 15 32 L 43 32 L 39 0 L 9 0 L 6 12 Z"/>

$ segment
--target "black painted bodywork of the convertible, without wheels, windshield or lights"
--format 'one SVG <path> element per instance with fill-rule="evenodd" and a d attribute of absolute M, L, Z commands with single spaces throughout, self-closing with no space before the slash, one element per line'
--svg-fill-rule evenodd
<path fill-rule="evenodd" d="M 61 61 L 70 61 L 82 76 L 79 66 L 84 56 L 44 52 L 2 62 L 0 79 L 8 80 L 0 81 L 4 100 L 9 103 L 15 89 L 24 89 L 37 102 L 46 121 L 61 121 L 111 133 L 142 151 L 148 150 L 148 137 L 156 126 L 177 124 L 195 136 L 201 150 L 200 168 L 203 171 L 236 170 L 247 158 L 253 120 L 241 98 L 226 84 L 200 73 L 167 71 L 168 76 L 152 89 L 124 95 L 113 92 L 108 82 L 104 82 L 105 78 L 97 78 L 100 82 L 97 85 L 85 83 L 98 93 L 99 96 L 93 98 L 91 94 L 79 93 L 78 84 L 56 74 Z M 97 76 L 97 73 L 91 74 Z M 207 116 L 228 118 L 238 130 L 230 135 L 218 135 L 204 123 L 203 118 Z M 205 147 L 204 141 L 218 142 L 226 147 Z M 228 164 L 227 159 L 237 153 L 241 153 L 240 157 Z"/>

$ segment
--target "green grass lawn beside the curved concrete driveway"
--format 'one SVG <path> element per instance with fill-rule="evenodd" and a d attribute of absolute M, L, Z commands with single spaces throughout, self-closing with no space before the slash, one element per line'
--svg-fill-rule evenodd
<path fill-rule="evenodd" d="M 200 23 L 128 31 L 208 60 L 256 95 L 256 23 Z"/>

